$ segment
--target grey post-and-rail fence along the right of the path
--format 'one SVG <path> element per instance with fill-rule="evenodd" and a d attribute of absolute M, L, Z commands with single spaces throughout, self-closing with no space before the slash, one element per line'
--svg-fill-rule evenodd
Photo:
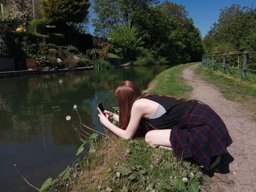
<path fill-rule="evenodd" d="M 218 60 L 222 61 L 222 73 L 223 74 L 227 74 L 227 69 L 239 70 L 239 71 L 241 71 L 241 77 L 243 79 L 245 79 L 246 72 L 256 73 L 256 70 L 254 70 L 254 69 L 247 69 L 249 54 L 252 54 L 252 55 L 255 54 L 255 56 L 256 56 L 256 52 L 246 52 L 246 51 L 244 53 L 206 55 L 206 56 L 203 56 L 203 58 L 202 58 L 202 64 L 204 67 L 206 67 L 208 69 L 216 70 L 217 69 L 217 59 L 218 59 Z M 242 64 L 241 68 L 239 67 L 239 64 L 237 67 L 232 67 L 232 66 L 234 66 L 234 64 L 232 66 L 230 64 L 227 65 L 227 56 L 229 56 L 229 55 L 237 55 L 238 58 L 239 58 L 239 55 L 243 56 L 243 64 Z M 239 61 L 239 59 L 238 59 L 238 61 Z M 256 59 L 255 59 L 255 66 L 256 66 Z"/>

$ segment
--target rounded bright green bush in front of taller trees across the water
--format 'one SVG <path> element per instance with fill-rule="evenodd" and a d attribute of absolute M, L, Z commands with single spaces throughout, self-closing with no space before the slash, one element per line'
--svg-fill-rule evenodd
<path fill-rule="evenodd" d="M 143 41 L 139 37 L 137 28 L 120 26 L 110 33 L 109 37 L 113 43 L 113 51 L 121 58 L 134 61 L 140 54 Z"/>

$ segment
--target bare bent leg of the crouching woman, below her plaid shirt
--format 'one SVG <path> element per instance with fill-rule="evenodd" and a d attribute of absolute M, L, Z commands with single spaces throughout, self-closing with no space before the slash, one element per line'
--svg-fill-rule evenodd
<path fill-rule="evenodd" d="M 167 150 L 172 150 L 170 145 L 170 131 L 171 129 L 161 129 L 148 131 L 145 136 L 145 141 L 151 147 L 163 147 Z"/>

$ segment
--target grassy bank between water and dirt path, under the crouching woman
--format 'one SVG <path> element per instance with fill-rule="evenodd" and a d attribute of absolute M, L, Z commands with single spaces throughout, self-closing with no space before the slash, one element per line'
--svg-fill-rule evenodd
<path fill-rule="evenodd" d="M 191 64 L 174 66 L 157 75 L 147 91 L 187 97 L 191 88 L 181 77 Z M 108 135 L 110 135 L 108 133 Z M 173 152 L 146 145 L 144 139 L 110 136 L 94 141 L 80 161 L 76 179 L 70 174 L 49 191 L 199 191 L 206 188 L 198 167 L 175 158 Z"/>

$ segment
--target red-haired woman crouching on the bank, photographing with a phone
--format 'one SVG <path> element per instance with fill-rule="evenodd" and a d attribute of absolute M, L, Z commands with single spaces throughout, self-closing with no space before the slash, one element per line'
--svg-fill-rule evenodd
<path fill-rule="evenodd" d="M 142 94 L 128 80 L 118 85 L 115 96 L 119 115 L 105 110 L 105 116 L 98 110 L 100 122 L 118 137 L 131 139 L 146 132 L 148 145 L 173 149 L 177 157 L 192 158 L 206 170 L 219 164 L 232 143 L 219 115 L 200 101 Z M 118 126 L 111 118 L 118 120 Z"/>

